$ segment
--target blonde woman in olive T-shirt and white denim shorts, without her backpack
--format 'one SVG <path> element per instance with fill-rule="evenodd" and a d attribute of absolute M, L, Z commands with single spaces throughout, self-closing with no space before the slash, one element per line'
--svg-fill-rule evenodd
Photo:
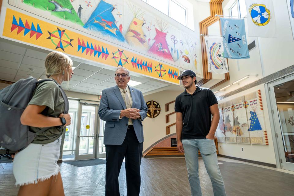
<path fill-rule="evenodd" d="M 45 60 L 47 78 L 40 83 L 21 116 L 30 131 L 50 127 L 38 135 L 24 150 L 14 156 L 13 175 L 20 186 L 19 196 L 64 195 L 57 165 L 62 129 L 70 125 L 70 115 L 63 114 L 64 100 L 56 84 L 69 81 L 74 74 L 72 60 L 62 52 L 51 52 Z"/>

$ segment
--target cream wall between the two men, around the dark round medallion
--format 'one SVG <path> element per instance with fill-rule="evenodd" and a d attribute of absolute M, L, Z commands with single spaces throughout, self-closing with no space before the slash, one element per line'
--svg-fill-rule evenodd
<path fill-rule="evenodd" d="M 184 88 L 183 88 L 184 91 Z M 169 111 L 165 112 L 165 104 L 174 101 L 175 98 L 183 91 L 161 91 L 144 96 L 145 102 L 156 101 L 161 107 L 160 114 L 155 118 L 146 117 L 143 121 L 144 142 L 143 151 L 151 146 L 154 142 L 164 138 L 166 135 L 166 126 L 175 123 L 175 114 L 169 117 L 170 122 L 165 123 L 165 115 L 175 111 L 175 104 L 169 105 Z M 170 134 L 175 133 L 175 126 L 170 127 Z"/>

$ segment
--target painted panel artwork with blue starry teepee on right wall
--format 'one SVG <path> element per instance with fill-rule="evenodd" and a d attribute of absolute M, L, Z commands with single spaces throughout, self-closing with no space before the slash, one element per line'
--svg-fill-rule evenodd
<path fill-rule="evenodd" d="M 231 104 L 231 106 L 230 106 Z M 268 145 L 261 91 L 252 92 L 219 106 L 219 142 Z M 222 122 L 221 122 L 222 121 Z M 224 124 L 224 133 L 221 130 Z M 225 141 L 223 139 L 225 135 Z"/>

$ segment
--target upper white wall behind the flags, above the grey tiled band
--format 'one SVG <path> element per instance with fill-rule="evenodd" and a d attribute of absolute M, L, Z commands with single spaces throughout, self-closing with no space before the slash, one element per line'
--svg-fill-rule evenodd
<path fill-rule="evenodd" d="M 225 0 L 223 2 L 224 15 L 229 15 L 228 9 L 233 2 L 235 2 L 235 0 Z M 247 36 L 247 44 L 255 40 L 257 46 L 249 52 L 250 58 L 239 60 L 228 59 L 230 80 L 212 90 L 215 92 L 218 89 L 221 89 L 248 74 L 258 74 L 258 77 L 250 77 L 249 79 L 241 82 L 239 86 L 232 86 L 226 89 L 226 91 L 217 93 L 217 96 L 240 88 L 243 85 L 249 84 L 252 81 L 273 74 L 294 64 L 294 40 L 291 32 L 287 2 L 285 0 L 273 1 L 273 6 L 275 12 L 275 15 L 273 17 L 275 17 L 277 26 L 276 37 L 257 38 Z M 245 28 L 246 34 L 248 35 L 247 18 L 245 18 Z M 214 32 L 209 32 L 209 34 L 211 35 L 213 33 Z M 260 48 L 258 47 L 258 42 Z M 264 67 L 264 73 L 262 73 L 262 65 Z"/>

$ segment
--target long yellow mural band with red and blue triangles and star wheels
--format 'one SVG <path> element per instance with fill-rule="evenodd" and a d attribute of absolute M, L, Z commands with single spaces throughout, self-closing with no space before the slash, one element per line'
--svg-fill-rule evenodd
<path fill-rule="evenodd" d="M 136 73 L 179 84 L 179 69 L 128 50 L 72 32 L 40 19 L 5 9 L 2 37 L 85 58 L 107 66 L 123 66 Z"/>

